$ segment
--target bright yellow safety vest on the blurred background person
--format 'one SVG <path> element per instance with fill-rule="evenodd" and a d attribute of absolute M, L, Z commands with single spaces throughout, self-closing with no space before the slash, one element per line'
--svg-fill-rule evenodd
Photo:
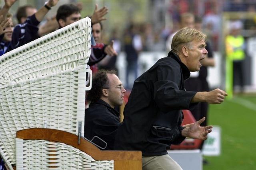
<path fill-rule="evenodd" d="M 245 58 L 245 53 L 243 49 L 244 37 L 238 35 L 234 37 L 228 35 L 226 37 L 226 54 L 231 60 L 243 60 Z"/>

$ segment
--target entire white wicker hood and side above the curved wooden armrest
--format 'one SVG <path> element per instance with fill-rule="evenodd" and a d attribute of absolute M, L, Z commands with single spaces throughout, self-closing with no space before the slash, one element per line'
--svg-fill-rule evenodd
<path fill-rule="evenodd" d="M 0 57 L 0 154 L 10 169 L 16 131 L 84 126 L 90 33 L 85 18 Z"/>

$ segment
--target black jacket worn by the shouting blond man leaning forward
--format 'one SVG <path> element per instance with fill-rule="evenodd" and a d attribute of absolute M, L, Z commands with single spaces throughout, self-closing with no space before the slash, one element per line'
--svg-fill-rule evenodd
<path fill-rule="evenodd" d="M 134 82 L 124 109 L 114 150 L 141 150 L 143 156 L 167 154 L 166 148 L 185 138 L 180 131 L 183 114 L 196 92 L 184 89 L 188 68 L 172 53 L 154 64 Z"/>

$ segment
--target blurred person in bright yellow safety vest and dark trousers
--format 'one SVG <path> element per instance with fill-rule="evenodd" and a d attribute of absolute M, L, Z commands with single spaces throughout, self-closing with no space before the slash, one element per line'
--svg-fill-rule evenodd
<path fill-rule="evenodd" d="M 245 41 L 241 35 L 241 29 L 243 23 L 240 20 L 231 21 L 230 23 L 230 34 L 226 37 L 226 55 L 227 61 L 231 61 L 231 67 L 233 68 L 233 76 L 230 83 L 238 84 L 240 86 L 240 92 L 244 91 L 244 69 L 243 61 L 246 57 L 245 54 Z M 228 63 L 228 62 L 227 62 Z M 231 75 L 229 75 L 231 76 Z"/>

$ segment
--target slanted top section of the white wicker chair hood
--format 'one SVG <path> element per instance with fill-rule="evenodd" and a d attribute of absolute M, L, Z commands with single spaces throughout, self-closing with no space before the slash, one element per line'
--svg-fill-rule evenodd
<path fill-rule="evenodd" d="M 0 57 L 0 88 L 76 68 L 89 60 L 91 27 L 84 18 Z"/>

